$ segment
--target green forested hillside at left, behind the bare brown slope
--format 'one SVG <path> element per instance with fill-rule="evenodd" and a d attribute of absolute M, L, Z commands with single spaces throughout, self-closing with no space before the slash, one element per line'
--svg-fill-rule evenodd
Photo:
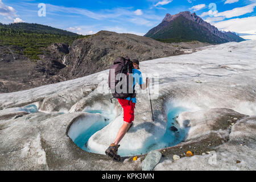
<path fill-rule="evenodd" d="M 13 46 L 16 53 L 32 60 L 52 43 L 68 43 L 86 36 L 35 23 L 0 23 L 0 46 Z"/>

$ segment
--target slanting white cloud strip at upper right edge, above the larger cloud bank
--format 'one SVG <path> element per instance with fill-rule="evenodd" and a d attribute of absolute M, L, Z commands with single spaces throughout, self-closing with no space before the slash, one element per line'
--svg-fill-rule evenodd
<path fill-rule="evenodd" d="M 253 3 L 251 5 L 243 6 L 243 7 L 236 7 L 233 10 L 223 11 L 220 13 L 217 13 L 216 16 L 225 16 L 226 18 L 232 18 L 235 16 L 241 16 L 246 13 L 251 13 L 254 11 L 254 7 L 256 6 L 256 3 Z"/>

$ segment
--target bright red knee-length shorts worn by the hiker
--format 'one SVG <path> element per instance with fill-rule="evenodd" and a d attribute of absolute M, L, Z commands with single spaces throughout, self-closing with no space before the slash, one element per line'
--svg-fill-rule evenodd
<path fill-rule="evenodd" d="M 135 103 L 130 101 L 130 105 L 129 105 L 128 100 L 120 99 L 120 98 L 118 98 L 118 101 L 121 104 L 121 106 L 123 107 L 123 121 L 125 121 L 127 123 L 133 122 L 134 121 Z"/>

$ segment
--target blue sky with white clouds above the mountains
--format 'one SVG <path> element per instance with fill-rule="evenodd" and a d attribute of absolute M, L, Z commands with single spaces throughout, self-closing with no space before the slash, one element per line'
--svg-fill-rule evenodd
<path fill-rule="evenodd" d="M 39 3 L 46 5 L 46 16 L 38 15 Z M 256 0 L 0 0 L 0 22 L 40 23 L 83 35 L 100 30 L 144 35 L 167 13 L 191 11 L 220 30 L 249 36 L 256 34 L 255 6 Z"/>

